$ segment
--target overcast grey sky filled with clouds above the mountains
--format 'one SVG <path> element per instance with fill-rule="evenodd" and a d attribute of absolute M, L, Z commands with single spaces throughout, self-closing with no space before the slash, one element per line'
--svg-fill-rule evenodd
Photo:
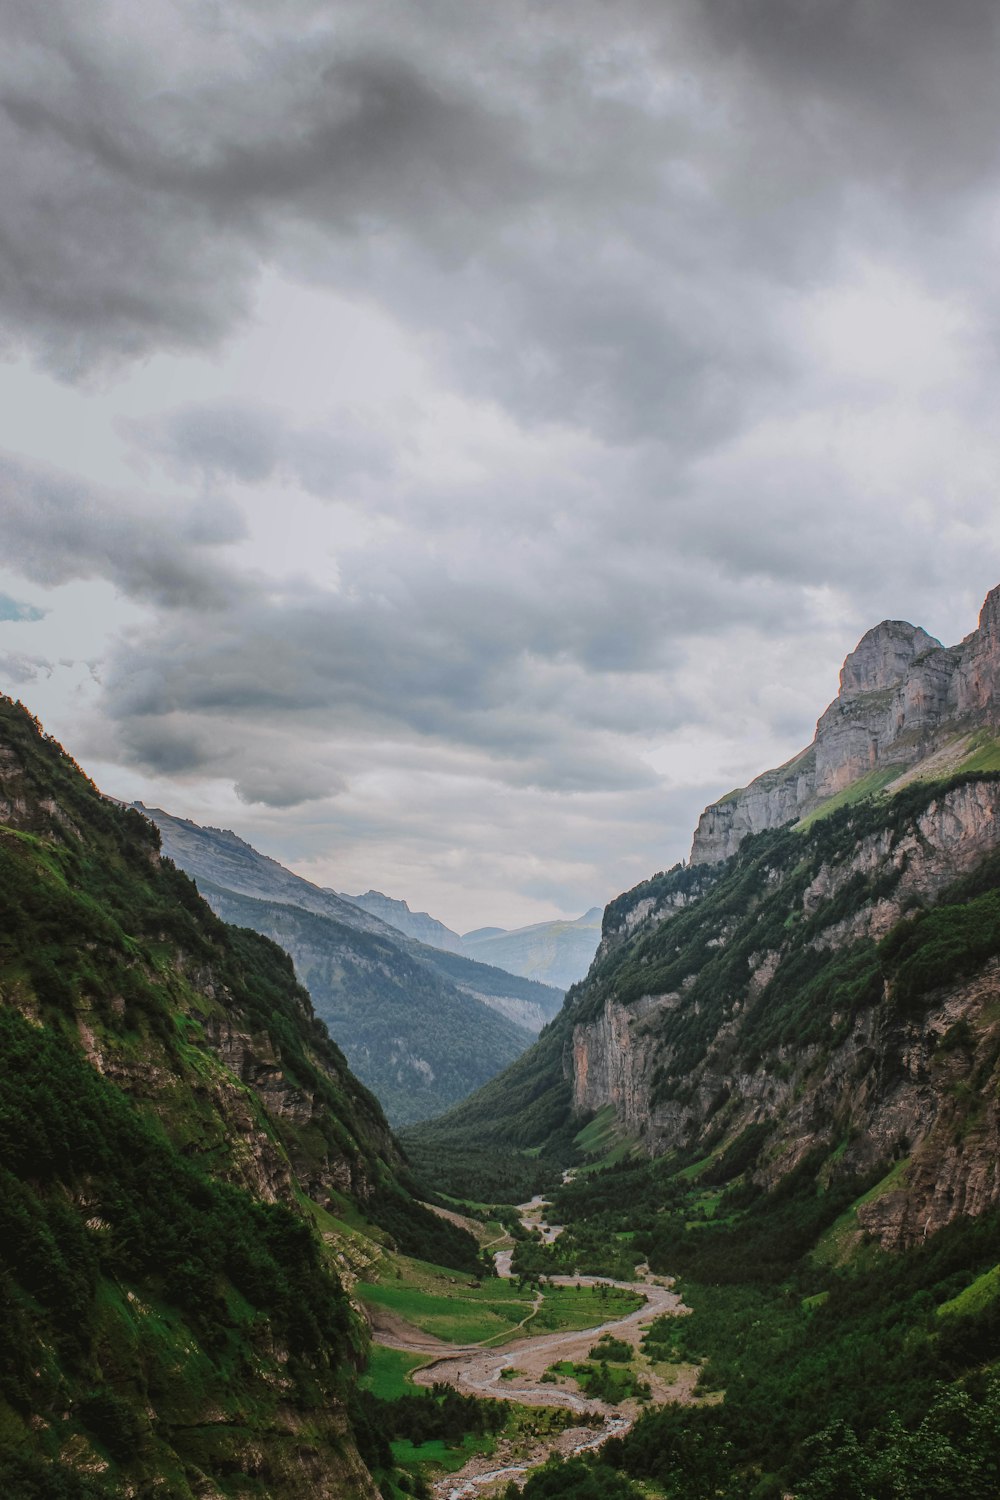
<path fill-rule="evenodd" d="M 576 916 L 1000 582 L 991 0 L 0 0 L 0 688 Z"/>

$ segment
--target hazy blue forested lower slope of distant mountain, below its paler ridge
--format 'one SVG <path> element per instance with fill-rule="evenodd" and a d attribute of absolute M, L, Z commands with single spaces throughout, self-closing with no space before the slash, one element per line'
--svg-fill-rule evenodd
<path fill-rule="evenodd" d="M 381 934 L 207 884 L 201 891 L 223 921 L 264 933 L 291 956 L 316 1014 L 394 1125 L 439 1114 L 531 1044 L 526 1030 Z"/>

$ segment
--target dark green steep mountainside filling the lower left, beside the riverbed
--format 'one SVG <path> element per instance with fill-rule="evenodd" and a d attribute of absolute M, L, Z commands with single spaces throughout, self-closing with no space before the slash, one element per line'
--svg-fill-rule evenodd
<path fill-rule="evenodd" d="M 460 1269 L 475 1245 L 415 1202 L 286 954 L 9 699 L 0 933 L 3 1492 L 378 1500 L 342 1220 L 367 1260 L 378 1224 Z"/>

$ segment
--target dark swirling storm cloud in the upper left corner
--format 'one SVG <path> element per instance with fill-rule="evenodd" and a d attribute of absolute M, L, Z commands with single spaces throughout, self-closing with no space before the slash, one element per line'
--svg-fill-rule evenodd
<path fill-rule="evenodd" d="M 532 189 L 513 122 L 364 36 L 241 34 L 235 4 L 10 10 L 0 302 L 61 374 L 217 342 L 300 220 L 346 240 L 415 222 L 451 255 Z"/>

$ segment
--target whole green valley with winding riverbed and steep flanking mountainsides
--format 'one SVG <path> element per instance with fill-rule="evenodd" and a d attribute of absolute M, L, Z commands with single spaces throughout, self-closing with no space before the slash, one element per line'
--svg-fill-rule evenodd
<path fill-rule="evenodd" d="M 195 886 L 1 700 L 4 1492 L 993 1500 L 997 597 L 865 636 L 795 820 L 709 808 L 558 1006 L 183 825 Z M 394 1134 L 324 1016 L 466 1076 Z"/>

